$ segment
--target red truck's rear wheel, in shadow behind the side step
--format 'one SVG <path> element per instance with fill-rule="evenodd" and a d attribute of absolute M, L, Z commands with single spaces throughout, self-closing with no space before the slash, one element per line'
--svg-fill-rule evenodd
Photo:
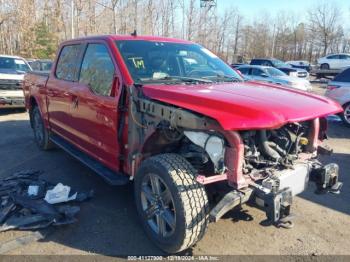
<path fill-rule="evenodd" d="M 37 146 L 44 151 L 53 148 L 53 143 L 50 140 L 49 130 L 45 128 L 40 110 L 37 106 L 33 108 L 30 120 L 32 123 L 34 140 Z"/>

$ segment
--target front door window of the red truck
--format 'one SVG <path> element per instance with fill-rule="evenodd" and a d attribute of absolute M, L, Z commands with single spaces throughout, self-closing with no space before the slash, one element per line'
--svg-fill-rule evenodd
<path fill-rule="evenodd" d="M 79 82 L 86 84 L 98 95 L 111 93 L 114 65 L 103 44 L 89 44 L 81 65 Z"/>

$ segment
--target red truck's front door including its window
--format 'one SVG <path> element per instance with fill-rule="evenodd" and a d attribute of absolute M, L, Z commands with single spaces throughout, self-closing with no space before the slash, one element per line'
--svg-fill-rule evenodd
<path fill-rule="evenodd" d="M 89 42 L 73 90 L 78 101 L 72 109 L 75 144 L 113 170 L 119 169 L 120 153 L 117 101 L 121 78 L 116 75 L 116 61 L 107 43 Z"/>

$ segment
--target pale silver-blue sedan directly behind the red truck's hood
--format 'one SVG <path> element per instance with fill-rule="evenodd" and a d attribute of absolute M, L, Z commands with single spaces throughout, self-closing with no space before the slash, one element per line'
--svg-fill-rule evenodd
<path fill-rule="evenodd" d="M 306 79 L 288 76 L 281 70 L 269 66 L 240 66 L 237 68 L 246 80 L 258 80 L 292 88 L 311 91 L 312 86 Z"/>

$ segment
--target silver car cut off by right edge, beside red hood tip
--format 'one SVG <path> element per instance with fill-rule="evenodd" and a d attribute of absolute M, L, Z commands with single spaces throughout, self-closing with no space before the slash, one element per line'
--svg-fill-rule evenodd
<path fill-rule="evenodd" d="M 345 69 L 328 83 L 326 96 L 344 108 L 341 118 L 350 127 L 350 68 Z"/>

